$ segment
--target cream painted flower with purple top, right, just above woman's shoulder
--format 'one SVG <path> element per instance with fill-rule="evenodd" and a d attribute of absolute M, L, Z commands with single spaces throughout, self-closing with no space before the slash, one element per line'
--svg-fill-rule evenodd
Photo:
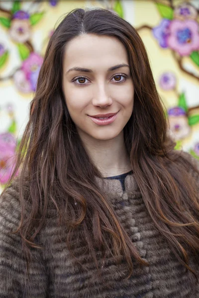
<path fill-rule="evenodd" d="M 168 110 L 169 131 L 175 140 L 187 137 L 190 133 L 190 126 L 185 110 L 181 107 L 173 107 Z"/>

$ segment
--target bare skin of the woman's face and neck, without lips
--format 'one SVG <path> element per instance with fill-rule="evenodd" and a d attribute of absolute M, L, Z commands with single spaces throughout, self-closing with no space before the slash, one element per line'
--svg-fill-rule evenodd
<path fill-rule="evenodd" d="M 121 64 L 126 66 L 110 70 Z M 134 86 L 123 44 L 114 37 L 93 34 L 68 42 L 62 87 L 70 116 L 102 176 L 131 170 L 123 128 L 132 114 Z M 114 122 L 105 126 L 97 125 L 88 116 L 115 112 Z"/>

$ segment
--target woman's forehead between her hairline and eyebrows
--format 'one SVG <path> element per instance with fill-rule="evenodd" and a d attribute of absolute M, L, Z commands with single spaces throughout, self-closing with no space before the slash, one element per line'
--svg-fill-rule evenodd
<path fill-rule="evenodd" d="M 128 63 L 124 45 L 115 37 L 85 34 L 67 43 L 64 69 L 72 67 L 102 68 Z"/>

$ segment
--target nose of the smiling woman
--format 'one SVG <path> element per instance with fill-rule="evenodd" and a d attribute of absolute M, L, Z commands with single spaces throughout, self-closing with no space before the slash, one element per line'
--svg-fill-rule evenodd
<path fill-rule="evenodd" d="M 105 108 L 112 104 L 112 98 L 105 86 L 105 84 L 100 84 L 95 86 L 93 105 L 100 108 Z"/>

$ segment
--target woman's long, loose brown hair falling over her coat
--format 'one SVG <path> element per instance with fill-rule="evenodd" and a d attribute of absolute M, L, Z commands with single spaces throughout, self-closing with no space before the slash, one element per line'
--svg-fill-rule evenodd
<path fill-rule="evenodd" d="M 199 201 L 196 183 L 187 170 L 192 167 L 191 162 L 174 150 L 167 136 L 163 106 L 141 38 L 128 22 L 104 9 L 73 10 L 49 41 L 11 177 L 20 167 L 21 222 L 17 232 L 24 249 L 37 246 L 35 237 L 53 204 L 58 224 L 68 227 L 68 247 L 73 230 L 81 226 L 80 238 L 88 241 L 97 268 L 96 248 L 104 255 L 111 248 L 118 260 L 124 256 L 130 273 L 132 259 L 146 265 L 94 179 L 100 177 L 100 172 L 90 160 L 65 103 L 65 45 L 81 34 L 113 36 L 126 48 L 135 94 L 133 113 L 124 127 L 124 141 L 133 173 L 155 226 L 179 261 L 194 272 L 189 267 L 188 251 L 199 252 Z M 23 189 L 27 172 L 31 207 L 28 214 Z"/>

